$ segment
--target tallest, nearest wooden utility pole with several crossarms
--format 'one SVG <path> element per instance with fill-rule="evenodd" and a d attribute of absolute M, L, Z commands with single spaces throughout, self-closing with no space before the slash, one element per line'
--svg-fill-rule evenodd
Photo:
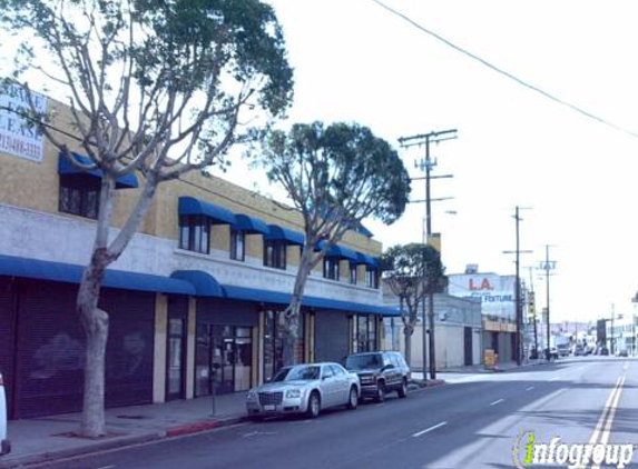
<path fill-rule="evenodd" d="M 457 129 L 443 130 L 443 131 L 434 131 L 429 133 L 422 133 L 418 136 L 411 137 L 401 137 L 399 139 L 399 143 L 404 147 L 414 147 L 414 146 L 424 146 L 425 147 L 425 158 L 421 159 L 415 167 L 421 171 L 425 172 L 424 178 L 413 178 L 413 180 L 424 179 L 425 180 L 425 199 L 424 200 L 414 200 L 413 202 L 425 202 L 425 236 L 424 236 L 424 245 L 430 241 L 430 237 L 432 236 L 432 202 L 440 201 L 440 200 L 448 200 L 451 197 L 432 199 L 430 193 L 430 180 L 431 179 L 440 179 L 440 178 L 452 178 L 451 174 L 445 176 L 432 176 L 431 171 L 434 166 L 436 166 L 436 161 L 432 160 L 430 157 L 430 143 L 439 143 L 444 140 L 453 140 L 457 138 Z M 425 290 L 425 258 L 423 258 L 423 290 Z M 428 308 L 425 308 L 425 302 L 428 302 Z M 425 321 L 425 309 L 428 309 L 428 318 L 429 321 Z M 423 299 L 423 316 L 422 316 L 422 340 L 423 340 L 423 379 L 425 379 L 425 363 L 426 358 L 430 358 L 430 379 L 436 379 L 436 357 L 435 357 L 435 348 L 434 348 L 434 293 L 432 289 L 429 288 L 429 292 L 426 298 Z M 426 340 L 428 332 L 426 332 L 426 325 L 429 325 L 430 329 L 430 340 Z M 428 355 L 425 352 L 425 343 L 428 342 Z"/>

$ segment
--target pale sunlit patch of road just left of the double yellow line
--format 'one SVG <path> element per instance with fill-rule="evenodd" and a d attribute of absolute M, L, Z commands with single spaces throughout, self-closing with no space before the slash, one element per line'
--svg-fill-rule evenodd
<path fill-rule="evenodd" d="M 420 441 L 426 445 L 428 449 L 412 442 L 401 450 L 402 453 L 410 455 L 411 461 L 399 467 L 511 468 L 514 448 L 520 449 L 521 445 L 518 440 L 529 436 L 531 431 L 539 443 L 549 443 L 554 437 L 560 437 L 561 441 L 567 443 L 589 442 L 621 370 L 618 366 L 599 363 L 593 369 L 581 371 L 583 372 L 578 373 L 573 380 L 566 377 L 553 381 L 552 386 L 559 386 L 559 389 L 544 398 L 532 400 L 522 408 L 509 407 L 507 400 L 492 406 L 492 410 L 498 411 L 500 418 L 491 423 L 479 418 L 469 425 L 457 427 L 449 423 L 428 433 Z M 425 438 L 428 441 L 424 441 Z M 524 443 L 527 441 L 522 442 Z M 420 448 L 421 459 L 418 455 Z M 431 451 L 431 448 L 441 450 Z M 436 457 L 436 453 L 441 456 Z M 372 463 L 371 467 L 382 466 Z"/>

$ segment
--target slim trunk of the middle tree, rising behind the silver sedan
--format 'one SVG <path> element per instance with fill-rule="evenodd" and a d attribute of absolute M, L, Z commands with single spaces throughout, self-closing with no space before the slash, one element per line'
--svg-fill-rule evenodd
<path fill-rule="evenodd" d="M 300 313 L 304 289 L 311 272 L 312 252 L 310 249 L 312 249 L 312 247 L 308 248 L 307 246 L 304 246 L 304 251 L 300 261 L 300 269 L 293 288 L 293 297 L 291 298 L 291 303 L 284 311 L 284 366 L 296 365 L 297 362 L 296 351 L 300 341 Z"/>

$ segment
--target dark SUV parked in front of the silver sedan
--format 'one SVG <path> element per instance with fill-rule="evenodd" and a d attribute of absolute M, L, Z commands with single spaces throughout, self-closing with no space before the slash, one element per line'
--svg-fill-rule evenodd
<path fill-rule="evenodd" d="M 345 368 L 356 372 L 361 381 L 361 397 L 383 402 L 387 392 L 408 396 L 410 367 L 400 352 L 375 351 L 354 353 L 345 359 Z"/>

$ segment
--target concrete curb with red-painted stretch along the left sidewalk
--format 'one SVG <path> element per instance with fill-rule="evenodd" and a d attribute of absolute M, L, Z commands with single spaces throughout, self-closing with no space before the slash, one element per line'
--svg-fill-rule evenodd
<path fill-rule="evenodd" d="M 170 427 L 166 430 L 151 431 L 144 435 L 135 435 L 130 437 L 120 437 L 109 441 L 96 441 L 77 448 L 67 448 L 57 451 L 46 451 L 33 455 L 24 455 L 16 457 L 8 461 L 0 462 L 0 469 L 13 469 L 20 467 L 28 467 L 32 465 L 53 462 L 61 459 L 73 458 L 77 456 L 90 455 L 100 451 L 107 451 L 116 448 L 126 448 L 129 446 L 157 441 L 168 438 L 176 438 L 184 435 L 202 433 L 205 431 L 214 430 L 216 428 L 229 427 L 232 425 L 242 423 L 247 420 L 247 417 L 232 417 L 220 420 L 203 420 L 193 423 Z"/>

